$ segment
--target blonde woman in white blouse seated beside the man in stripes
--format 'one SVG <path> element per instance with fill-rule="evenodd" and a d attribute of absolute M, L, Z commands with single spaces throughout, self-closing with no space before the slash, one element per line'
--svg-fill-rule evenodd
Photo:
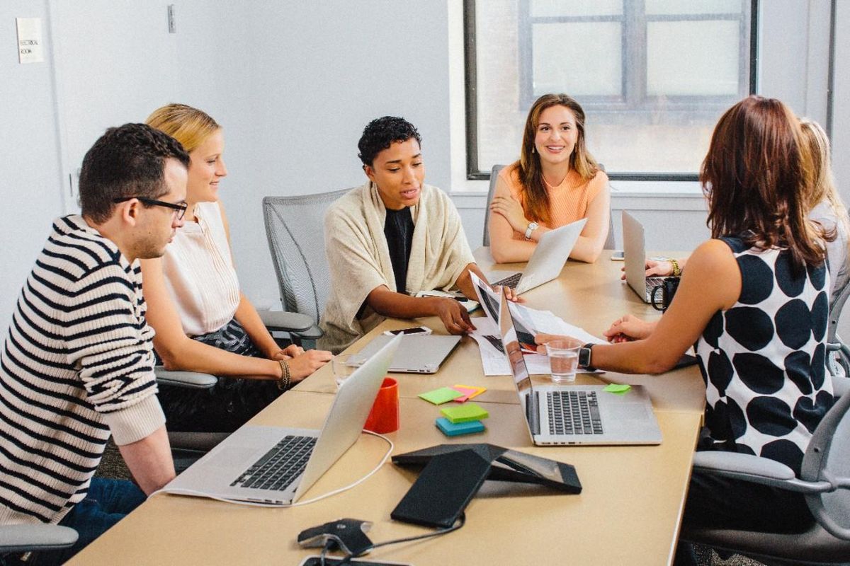
<path fill-rule="evenodd" d="M 167 369 L 222 376 L 201 391 L 161 385 L 160 401 L 169 428 L 230 432 L 331 354 L 295 345 L 281 349 L 239 289 L 218 199 L 227 176 L 221 126 L 185 104 L 156 109 L 147 123 L 176 138 L 190 155 L 184 227 L 161 259 L 142 262 L 154 347 Z"/>

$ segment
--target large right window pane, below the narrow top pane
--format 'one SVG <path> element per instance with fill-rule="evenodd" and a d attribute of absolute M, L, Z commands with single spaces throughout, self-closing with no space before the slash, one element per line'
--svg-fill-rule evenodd
<path fill-rule="evenodd" d="M 646 27 L 647 94 L 738 96 L 737 21 L 649 22 Z"/>

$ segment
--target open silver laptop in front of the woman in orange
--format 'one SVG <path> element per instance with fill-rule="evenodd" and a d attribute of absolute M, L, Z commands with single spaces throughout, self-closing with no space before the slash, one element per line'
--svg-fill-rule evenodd
<path fill-rule="evenodd" d="M 587 218 L 582 218 L 543 234 L 524 271 L 513 273 L 493 284 L 504 285 L 515 289 L 517 294 L 523 294 L 525 291 L 552 281 L 564 269 L 564 264 L 570 257 L 570 252 L 578 241 L 586 222 Z M 492 275 L 497 277 L 501 273 Z"/>

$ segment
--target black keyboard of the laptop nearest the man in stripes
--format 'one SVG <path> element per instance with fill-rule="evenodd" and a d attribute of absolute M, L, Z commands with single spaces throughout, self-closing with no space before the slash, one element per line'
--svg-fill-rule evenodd
<path fill-rule="evenodd" d="M 254 490 L 285 490 L 307 467 L 316 440 L 313 436 L 292 434 L 284 437 L 230 485 Z"/>

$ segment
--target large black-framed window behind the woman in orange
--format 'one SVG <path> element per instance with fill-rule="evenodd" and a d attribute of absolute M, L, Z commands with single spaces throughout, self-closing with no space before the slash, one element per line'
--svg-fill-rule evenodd
<path fill-rule="evenodd" d="M 755 90 L 755 0 L 465 0 L 467 176 L 519 155 L 547 92 L 587 114 L 609 177 L 696 178 L 725 109 Z"/>

